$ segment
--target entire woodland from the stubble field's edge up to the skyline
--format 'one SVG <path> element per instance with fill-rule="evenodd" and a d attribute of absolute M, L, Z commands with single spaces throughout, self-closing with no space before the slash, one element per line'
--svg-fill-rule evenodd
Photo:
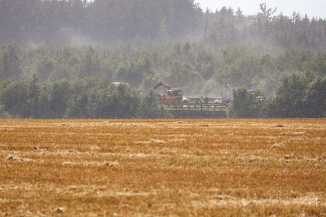
<path fill-rule="evenodd" d="M 250 16 L 239 8 L 203 10 L 193 0 L 0 5 L 0 117 L 169 117 L 152 102 L 150 89 L 160 81 L 189 97 L 234 89 L 239 101 L 229 108 L 232 117 L 321 117 L 326 111 L 325 19 L 287 17 L 265 3 Z M 256 92 L 243 91 L 249 89 Z M 313 94 L 318 101 L 309 99 Z M 263 102 L 251 102 L 258 95 Z M 248 100 L 259 112 L 241 113 Z M 308 109 L 312 103 L 317 113 Z M 114 104 L 125 110 L 114 111 Z M 154 109 L 141 112 L 146 105 Z"/>

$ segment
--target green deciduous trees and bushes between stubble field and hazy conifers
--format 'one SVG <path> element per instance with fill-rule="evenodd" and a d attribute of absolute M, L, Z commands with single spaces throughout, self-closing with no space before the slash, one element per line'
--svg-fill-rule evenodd
<path fill-rule="evenodd" d="M 185 95 L 205 95 L 208 90 L 214 90 L 209 93 L 218 97 L 221 90 L 234 89 L 234 102 L 228 111 L 228 116 L 234 118 L 316 118 L 323 117 L 326 111 L 326 53 L 291 49 L 275 57 L 263 57 L 265 63 L 252 56 L 250 61 L 254 58 L 257 61 L 248 66 L 252 75 L 247 75 L 244 70 L 250 55 L 232 49 L 221 59 L 216 57 L 207 64 L 215 69 L 210 69 L 213 73 L 205 80 L 194 70 L 196 65 L 191 65 L 191 61 L 182 63 L 168 54 L 150 54 L 149 50 L 130 52 L 122 59 L 104 57 L 91 46 L 57 48 L 52 51 L 55 53 L 52 57 L 50 50 L 30 49 L 24 54 L 16 43 L 0 49 L 3 66 L 0 71 L 2 75 L 11 72 L 9 78 L 3 76 L 0 83 L 0 117 L 171 117 L 158 104 L 157 95 L 150 91 L 157 81 L 184 87 Z M 44 55 L 37 55 L 41 51 Z M 237 56 L 238 52 L 242 54 Z M 197 53 L 198 56 L 202 54 Z M 15 57 L 16 61 L 7 61 L 8 56 Z M 31 59 L 27 61 L 29 56 Z M 227 60 L 229 58 L 232 60 Z M 128 59 L 134 62 L 128 63 Z M 157 71 L 162 70 L 162 59 L 173 62 L 168 73 Z M 276 69 L 278 67 L 283 67 L 283 71 Z M 112 81 L 130 86 L 115 85 Z M 250 87 L 257 89 L 249 92 Z M 152 112 L 146 112 L 149 110 Z"/>

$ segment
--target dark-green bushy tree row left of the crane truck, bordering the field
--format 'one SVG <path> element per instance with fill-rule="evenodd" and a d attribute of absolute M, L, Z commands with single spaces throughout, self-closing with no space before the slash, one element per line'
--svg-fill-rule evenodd
<path fill-rule="evenodd" d="M 0 84 L 0 118 L 171 118 L 154 91 L 96 77 L 37 84 L 6 79 Z"/>

